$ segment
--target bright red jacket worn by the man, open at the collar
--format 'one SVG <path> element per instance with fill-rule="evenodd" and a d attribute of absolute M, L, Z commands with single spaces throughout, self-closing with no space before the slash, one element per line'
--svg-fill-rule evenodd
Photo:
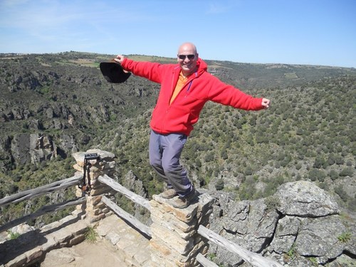
<path fill-rule="evenodd" d="M 181 70 L 179 64 L 137 62 L 125 58 L 122 67 L 135 75 L 161 84 L 150 127 L 160 134 L 182 133 L 189 135 L 199 119 L 204 104 L 211 100 L 242 110 L 263 109 L 262 98 L 253 98 L 232 85 L 221 82 L 207 72 L 207 65 L 199 58 L 198 70 L 189 77 L 180 93 L 169 105 Z"/>

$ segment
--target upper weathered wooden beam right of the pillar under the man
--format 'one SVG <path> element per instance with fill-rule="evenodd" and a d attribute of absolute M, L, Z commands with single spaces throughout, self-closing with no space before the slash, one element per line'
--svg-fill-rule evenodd
<path fill-rule="evenodd" d="M 222 246 L 223 248 L 226 248 L 228 251 L 236 253 L 241 258 L 243 258 L 244 261 L 251 263 L 252 266 L 256 266 L 256 267 L 283 267 L 280 263 L 272 261 L 269 258 L 264 258 L 263 256 L 261 256 L 258 253 L 248 251 L 247 249 L 242 248 L 241 246 L 235 244 L 234 242 L 224 239 L 224 237 L 219 236 L 219 234 L 216 234 L 214 231 L 211 231 L 202 225 L 199 226 L 198 234 L 200 234 L 201 236 L 204 236 L 206 239 L 209 239 L 210 241 L 214 242 L 215 244 Z"/>

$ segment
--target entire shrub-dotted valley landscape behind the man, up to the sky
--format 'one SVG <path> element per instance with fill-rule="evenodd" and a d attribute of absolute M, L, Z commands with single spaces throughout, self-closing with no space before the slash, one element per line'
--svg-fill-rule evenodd
<path fill-rule="evenodd" d="M 149 196 L 162 190 L 147 158 L 159 85 L 134 75 L 123 84 L 106 82 L 98 64 L 110 58 L 78 52 L 1 55 L 0 198 L 72 176 L 71 153 L 93 147 L 117 155 L 118 179 L 131 171 Z M 246 112 L 206 104 L 182 155 L 194 184 L 258 199 L 280 184 L 305 179 L 355 211 L 356 70 L 207 63 L 213 75 L 270 98 L 272 105 Z M 71 194 L 3 207 L 0 224 Z"/>

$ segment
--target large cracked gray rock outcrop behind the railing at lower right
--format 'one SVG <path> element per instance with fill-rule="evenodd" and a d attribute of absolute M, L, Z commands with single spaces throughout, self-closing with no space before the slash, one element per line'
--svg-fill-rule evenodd
<path fill-rule="evenodd" d="M 213 195 L 211 230 L 244 248 L 288 266 L 355 261 L 352 220 L 340 216 L 333 197 L 311 182 L 283 184 L 273 196 L 256 201 L 234 201 L 224 192 Z M 224 266 L 243 262 L 216 245 L 211 245 L 210 252 Z"/>

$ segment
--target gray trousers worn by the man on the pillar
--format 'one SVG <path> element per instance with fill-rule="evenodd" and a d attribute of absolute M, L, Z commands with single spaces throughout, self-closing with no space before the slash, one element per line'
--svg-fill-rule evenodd
<path fill-rule="evenodd" d="M 189 194 L 193 187 L 187 177 L 187 169 L 179 163 L 185 142 L 187 135 L 160 135 L 151 131 L 150 164 L 167 187 L 173 188 L 181 197 Z"/>

